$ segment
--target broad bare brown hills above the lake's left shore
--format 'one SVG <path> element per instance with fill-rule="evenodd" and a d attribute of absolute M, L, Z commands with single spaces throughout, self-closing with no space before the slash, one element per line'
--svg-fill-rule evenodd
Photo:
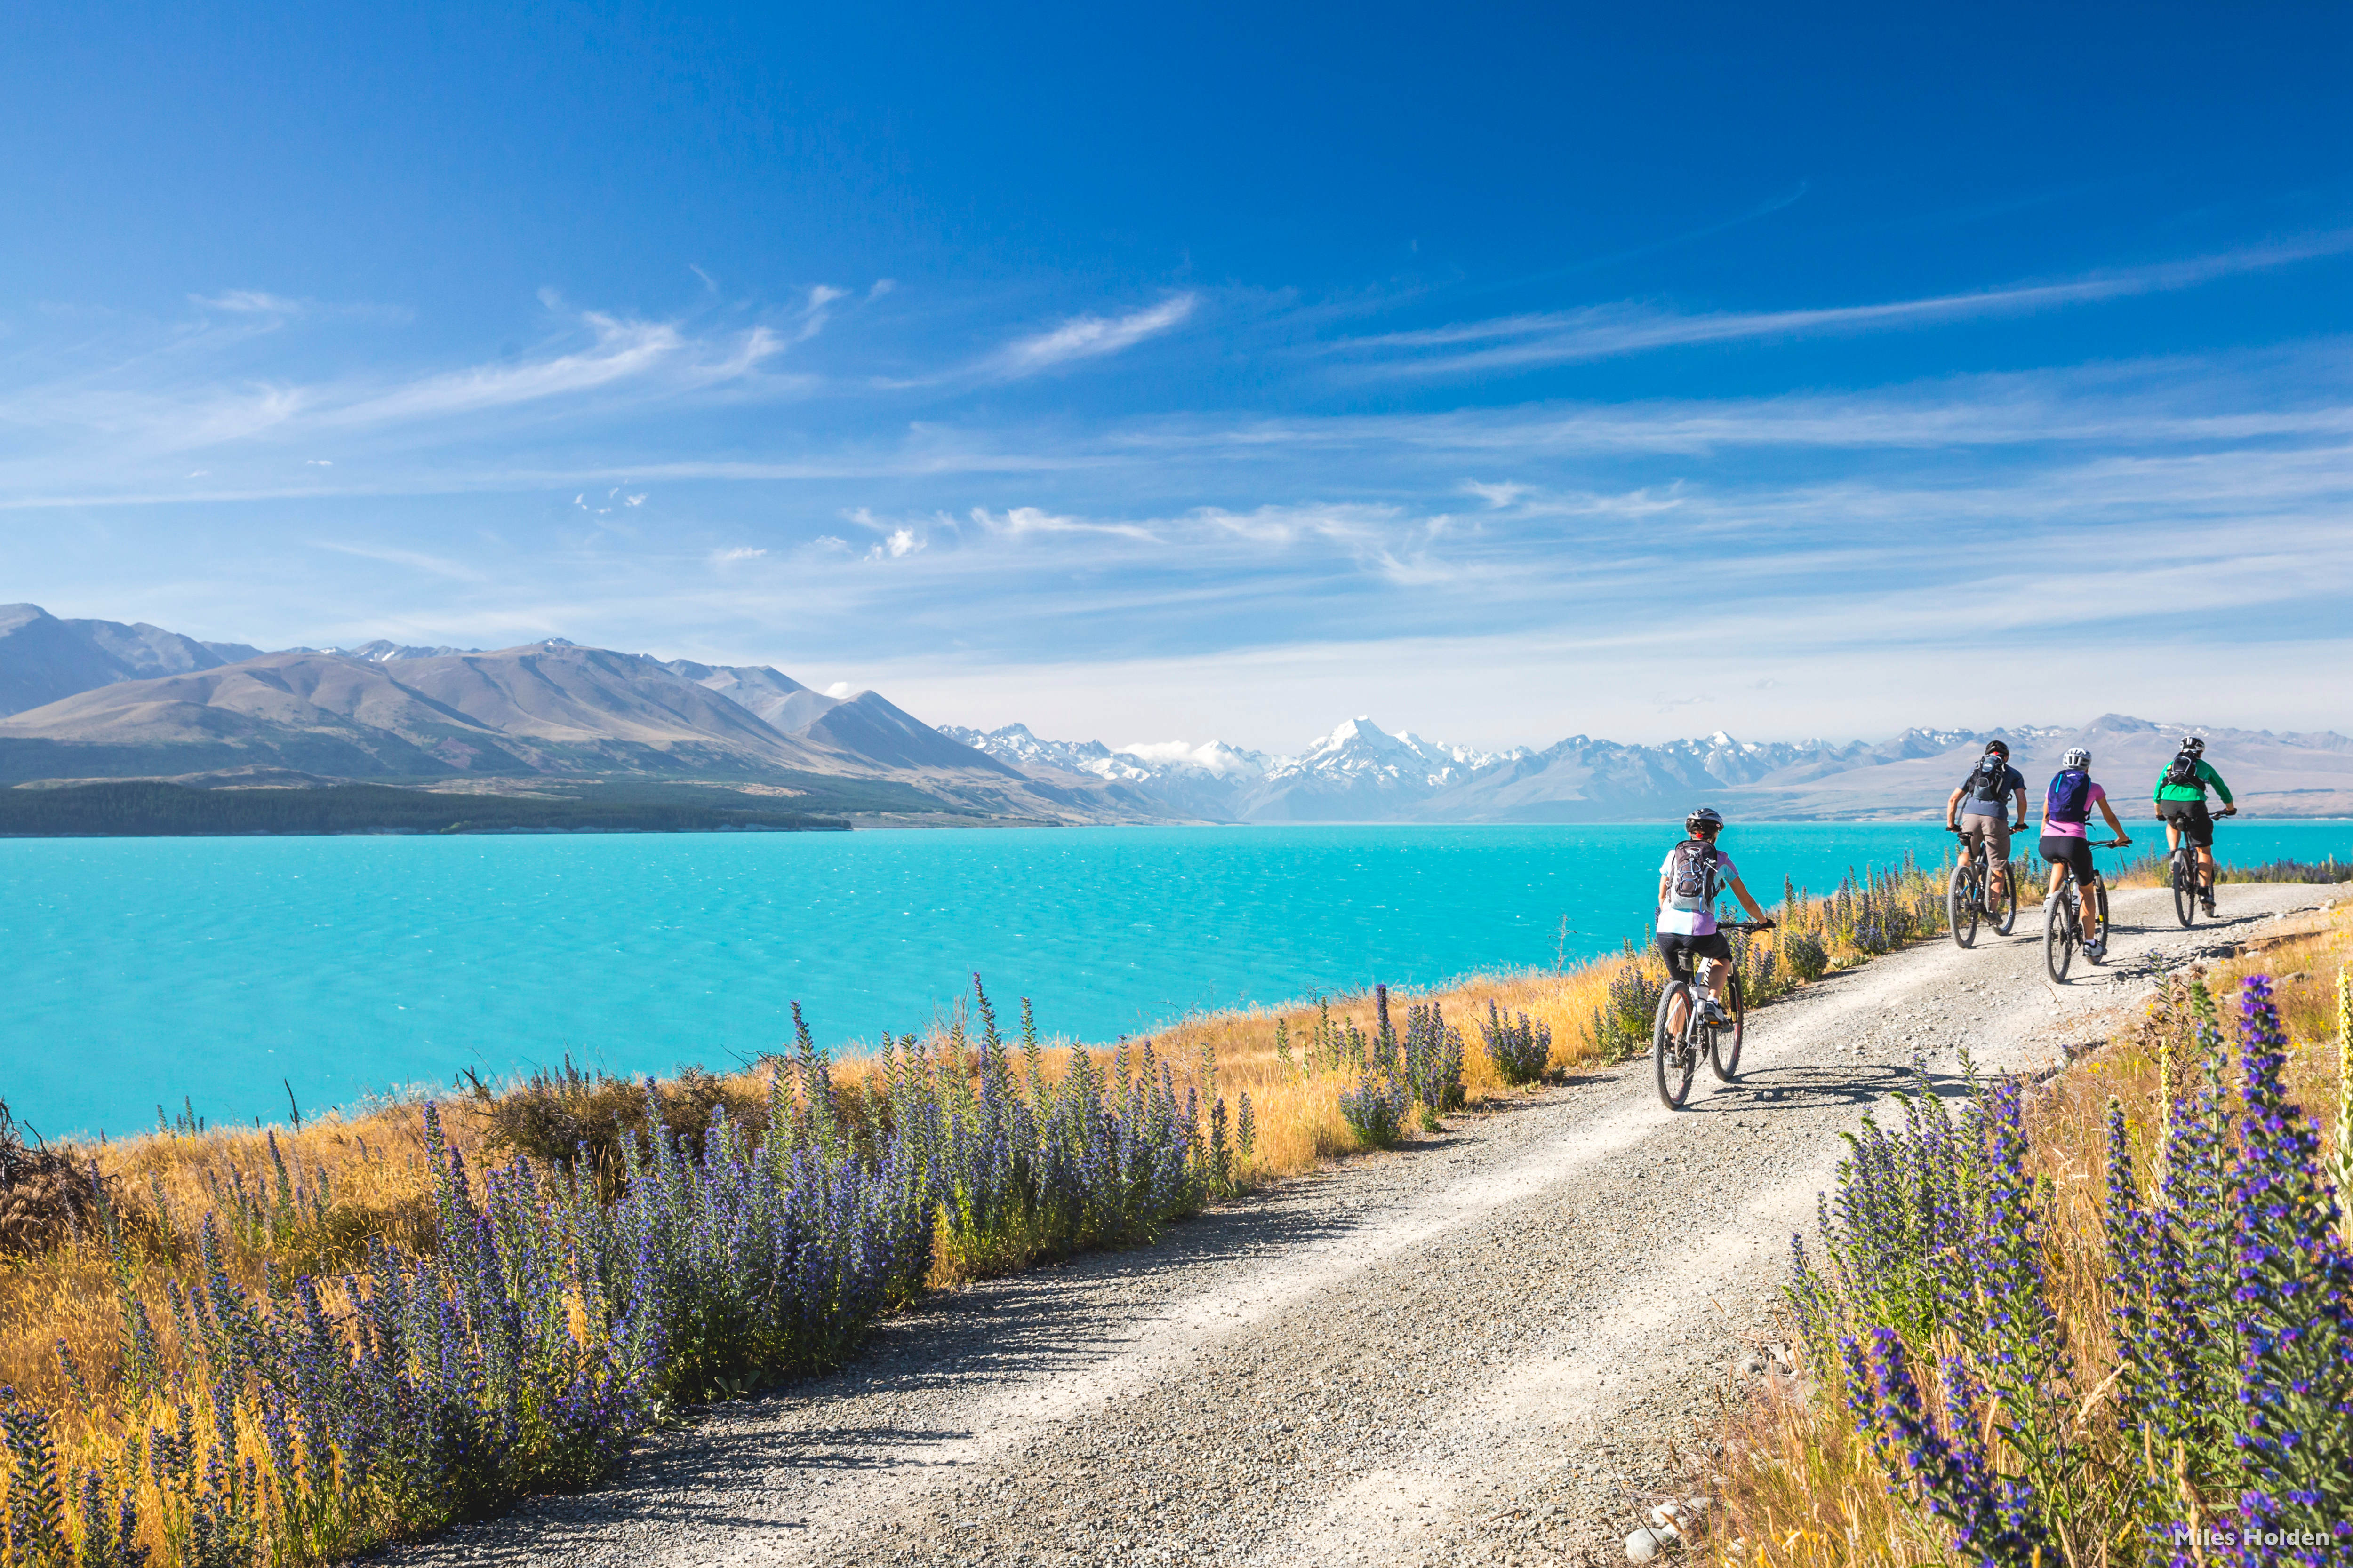
<path fill-rule="evenodd" d="M 765 665 L 661 663 L 569 642 L 492 654 L 372 644 L 120 679 L 125 658 L 106 663 L 104 649 L 68 623 L 35 611 L 19 630 L 33 637 L 26 646 L 61 651 L 56 679 L 106 679 L 0 717 L 0 783 L 212 773 L 238 785 L 292 776 L 805 785 L 828 776 L 913 790 L 894 811 L 953 818 L 1172 816 L 1160 802 L 1099 778 L 1009 766 L 875 691 L 828 698 Z M 21 668 L 35 665 L 21 661 Z"/>

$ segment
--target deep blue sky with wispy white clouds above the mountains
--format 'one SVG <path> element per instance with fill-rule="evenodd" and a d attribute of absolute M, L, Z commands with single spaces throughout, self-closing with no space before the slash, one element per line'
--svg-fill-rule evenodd
<path fill-rule="evenodd" d="M 221 9 L 12 12 L 0 599 L 1115 745 L 2353 729 L 2341 7 Z"/>

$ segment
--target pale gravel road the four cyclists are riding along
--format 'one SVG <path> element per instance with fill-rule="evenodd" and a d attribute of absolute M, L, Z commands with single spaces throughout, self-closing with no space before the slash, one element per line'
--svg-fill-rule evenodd
<path fill-rule="evenodd" d="M 1739 1084 L 1661 1110 L 1649 1063 L 1449 1119 L 1153 1248 L 925 1302 L 831 1378 L 725 1406 L 612 1488 L 384 1556 L 440 1563 L 1626 1561 L 1769 1333 L 1852 1126 L 1920 1060 L 1953 1088 L 2097 1039 L 2221 922 L 2115 896 L 2111 964 L 2042 976 L 2035 912 L 1748 1020 Z M 2033 926 L 2028 931 L 2028 926 Z"/>

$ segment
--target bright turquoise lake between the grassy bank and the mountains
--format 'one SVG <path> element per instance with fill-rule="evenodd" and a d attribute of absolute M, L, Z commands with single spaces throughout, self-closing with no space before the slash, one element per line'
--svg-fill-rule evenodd
<path fill-rule="evenodd" d="M 2129 823 L 2141 835 L 2139 823 Z M 920 1030 L 979 971 L 1000 1016 L 1108 1041 L 1191 1009 L 1588 957 L 1647 926 L 1678 830 L 1064 827 L 0 842 L 0 1098 L 47 1135 L 188 1098 L 285 1119 L 565 1053 L 729 1067 Z M 2151 835 L 2141 835 L 2141 846 Z M 1937 823 L 1734 825 L 1760 900 Z M 2162 839 L 2158 839 L 2162 844 Z M 2228 860 L 2353 853 L 2226 823 Z M 2139 846 L 2137 851 L 2139 853 Z M 2120 860 L 2118 851 L 2101 856 Z M 2228 898 L 2228 893 L 2224 893 Z M 1569 931 L 1562 938 L 1562 922 Z"/>

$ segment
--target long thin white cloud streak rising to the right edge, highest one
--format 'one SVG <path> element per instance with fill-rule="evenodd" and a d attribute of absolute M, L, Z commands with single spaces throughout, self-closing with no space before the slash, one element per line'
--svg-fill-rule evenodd
<path fill-rule="evenodd" d="M 2346 249 L 2353 249 L 2353 230 L 2144 268 L 2087 273 L 2061 282 L 2021 282 L 1998 289 L 1814 310 L 1715 310 L 1685 315 L 1638 301 L 1617 301 L 1581 306 L 1577 310 L 1499 315 L 1447 327 L 1341 339 L 1325 346 L 1322 353 L 1367 357 L 1369 362 L 1360 364 L 1358 371 L 1381 376 L 1508 371 L 1692 343 L 1795 339 L 1885 327 L 1925 327 L 1986 315 L 2024 315 L 2059 306 L 2188 289 L 2217 277 L 2259 273 L 2294 261 L 2311 261 L 2313 256 L 2344 254 Z"/>

